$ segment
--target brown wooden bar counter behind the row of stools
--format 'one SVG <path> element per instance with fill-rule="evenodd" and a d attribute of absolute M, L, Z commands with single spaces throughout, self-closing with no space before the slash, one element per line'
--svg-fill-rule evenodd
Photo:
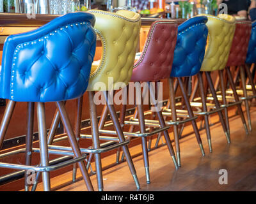
<path fill-rule="evenodd" d="M 0 63 L 2 60 L 2 54 L 3 54 L 3 44 L 4 40 L 9 36 L 10 34 L 17 34 L 17 33 L 24 33 L 27 31 L 31 31 L 33 29 L 36 29 L 37 27 L 40 27 L 47 22 L 51 21 L 52 19 L 58 17 L 58 15 L 36 15 L 35 18 L 28 18 L 26 14 L 19 14 L 19 13 L 0 13 Z M 147 38 L 147 33 L 150 27 L 150 24 L 156 20 L 169 20 L 166 18 L 141 18 L 141 31 L 140 31 L 140 46 L 139 50 L 141 51 L 144 45 L 144 42 Z M 184 22 L 184 19 L 174 19 L 177 20 L 178 24 L 181 24 Z M 97 49 L 95 54 L 95 60 L 100 59 L 101 56 L 101 42 L 100 40 L 97 40 Z M 167 81 L 163 80 L 163 87 L 165 90 L 163 92 L 163 99 L 168 99 L 168 84 Z M 7 101 L 6 101 L 7 103 Z M 0 106 L 0 119 L 3 117 L 3 113 L 6 106 Z M 77 102 L 76 99 L 67 101 L 66 104 L 68 114 L 70 117 L 70 120 L 72 124 L 74 125 L 76 121 L 76 110 L 77 110 Z M 102 112 L 103 106 L 97 106 L 97 115 L 100 115 Z M 119 112 L 120 106 L 115 106 L 116 111 Z M 148 106 L 145 106 L 145 110 L 147 110 Z M 84 94 L 83 99 L 83 113 L 82 113 L 82 133 L 90 133 L 90 113 L 88 112 L 89 106 L 88 106 L 88 99 L 87 94 Z M 51 126 L 51 121 L 54 116 L 54 112 L 56 111 L 56 106 L 54 103 L 45 103 L 45 113 L 46 113 L 46 122 L 47 122 L 47 128 L 49 129 Z M 128 105 L 127 106 L 127 113 L 126 115 L 131 115 L 134 111 L 134 105 Z M 26 135 L 26 114 L 27 114 L 27 103 L 17 103 L 15 106 L 15 110 L 13 112 L 13 117 L 10 121 L 10 125 L 8 128 L 8 131 L 6 133 L 6 137 L 4 139 L 3 148 L 1 150 L 1 153 L 8 152 L 10 150 L 15 150 L 20 147 L 24 147 L 25 143 L 25 135 Z M 172 131 L 172 128 L 170 128 L 170 131 Z M 60 137 L 63 133 L 63 128 L 58 129 L 58 136 Z M 57 138 L 58 138 L 57 136 Z M 129 146 L 137 145 L 140 142 L 138 139 L 132 140 L 132 142 L 129 144 Z M 56 144 L 60 145 L 68 145 L 67 141 L 58 142 Z M 81 145 L 83 147 L 90 147 L 92 145 L 91 140 L 82 140 Z M 33 147 L 38 147 L 38 138 L 37 138 L 37 121 L 36 121 L 36 112 L 35 112 L 35 124 L 34 124 L 34 145 Z M 116 150 L 112 150 L 111 152 L 107 152 L 105 154 L 102 154 L 102 157 L 108 156 L 109 154 L 115 154 Z M 132 152 L 131 152 L 132 154 Z M 39 154 L 35 153 L 33 154 L 32 164 L 38 164 Z M 50 156 L 50 159 L 56 158 L 55 156 Z M 4 159 L 0 159 L 3 162 L 8 163 L 20 163 L 24 164 L 24 154 L 22 155 L 16 155 L 16 156 L 10 156 L 6 157 Z M 115 161 L 113 161 L 115 163 Z M 61 170 L 52 171 L 51 177 L 54 177 L 56 175 L 60 175 L 60 173 L 70 171 L 72 170 L 72 165 L 67 166 L 66 168 L 62 168 Z M 15 170 L 9 170 L 9 169 L 0 169 L 0 191 L 18 191 L 20 189 L 24 188 L 24 179 L 21 175 L 16 175 L 13 177 L 10 177 L 11 179 L 7 180 L 1 180 L 1 177 L 3 175 L 6 175 L 8 173 L 13 173 Z M 72 179 L 72 178 L 70 178 Z M 10 183 L 10 181 L 12 181 Z"/>

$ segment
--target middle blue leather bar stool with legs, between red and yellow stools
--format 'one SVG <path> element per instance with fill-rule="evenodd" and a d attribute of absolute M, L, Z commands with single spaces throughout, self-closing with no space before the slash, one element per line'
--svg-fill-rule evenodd
<path fill-rule="evenodd" d="M 166 124 L 173 124 L 173 133 L 175 138 L 175 149 L 177 162 L 180 166 L 180 145 L 179 145 L 179 131 L 178 125 L 184 124 L 185 122 L 191 122 L 193 129 L 195 131 L 196 140 L 200 146 L 200 150 L 202 155 L 204 156 L 204 148 L 202 145 L 202 140 L 198 131 L 198 127 L 196 126 L 196 119 L 192 108 L 188 99 L 188 92 L 186 90 L 186 86 L 184 85 L 184 80 L 182 77 L 192 77 L 195 76 L 201 68 L 202 62 L 204 60 L 205 54 L 205 45 L 207 41 L 208 29 L 205 25 L 207 22 L 207 17 L 194 17 L 186 20 L 186 22 L 182 23 L 178 27 L 178 38 L 174 51 L 172 72 L 169 82 L 169 93 L 170 99 L 167 107 L 171 109 L 164 109 L 165 116 L 172 116 L 172 121 L 166 122 Z M 184 110 L 176 110 L 175 103 L 175 91 L 177 90 L 177 86 L 174 88 L 174 80 L 177 79 L 179 82 L 180 89 L 182 91 L 182 97 L 184 99 L 184 103 L 186 105 L 186 111 Z M 177 119 L 177 111 L 180 116 L 186 115 L 188 117 L 184 120 Z"/>

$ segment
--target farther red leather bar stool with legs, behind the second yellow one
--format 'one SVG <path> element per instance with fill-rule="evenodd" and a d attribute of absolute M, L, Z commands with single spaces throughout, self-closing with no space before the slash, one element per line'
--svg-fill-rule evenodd
<path fill-rule="evenodd" d="M 230 54 L 228 57 L 227 65 L 225 68 L 226 75 L 228 77 L 228 80 L 224 80 L 223 77 L 223 71 L 219 70 L 219 78 L 220 78 L 220 92 L 222 95 L 218 96 L 218 99 L 220 99 L 223 103 L 223 106 L 225 107 L 225 120 L 227 124 L 228 131 L 230 129 L 228 124 L 228 111 L 227 108 L 230 106 L 236 105 L 238 110 L 240 110 L 241 103 L 244 100 L 245 108 L 246 108 L 246 114 L 248 119 L 248 126 L 249 131 L 252 131 L 252 125 L 251 125 L 251 118 L 250 118 L 250 110 L 249 110 L 249 103 L 248 103 L 248 94 L 246 91 L 246 78 L 244 74 L 244 66 L 245 66 L 245 60 L 246 60 L 246 54 L 248 50 L 248 44 L 250 41 L 250 34 L 252 30 L 252 23 L 250 21 L 236 21 L 236 31 L 234 33 L 234 38 L 232 41 L 232 47 L 230 49 Z M 232 72 L 230 69 L 232 68 L 238 68 L 237 71 L 240 73 L 240 80 L 241 80 L 241 86 L 243 91 L 237 90 L 236 87 L 236 80 L 238 79 L 238 75 L 235 77 L 232 76 Z M 245 69 L 248 69 L 248 66 L 246 66 Z M 238 73 L 237 73 L 238 74 Z M 227 83 L 229 82 L 230 89 L 227 89 Z M 254 83 L 253 83 L 254 84 Z M 254 89 L 255 90 L 255 89 Z M 217 92 L 218 93 L 218 92 Z M 226 96 L 227 95 L 227 96 Z M 239 95 L 242 96 L 239 99 Z M 256 97 L 256 96 L 255 96 Z M 243 113 L 239 111 L 241 120 L 243 122 L 244 128 L 246 128 L 246 121 L 244 119 Z M 246 128 L 246 133 L 248 133 L 248 130 Z"/>

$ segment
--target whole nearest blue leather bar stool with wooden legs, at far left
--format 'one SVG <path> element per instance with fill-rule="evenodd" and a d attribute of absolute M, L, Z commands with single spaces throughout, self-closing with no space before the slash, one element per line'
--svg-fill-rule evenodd
<path fill-rule="evenodd" d="M 84 164 L 74 131 L 63 101 L 83 95 L 88 86 L 96 47 L 93 31 L 95 18 L 90 13 L 68 13 L 28 33 L 9 36 L 3 48 L 0 97 L 9 99 L 0 128 L 0 147 L 12 117 L 16 102 L 28 102 L 29 131 L 26 135 L 26 153 L 31 153 L 33 136 L 33 111 L 36 103 L 38 138 L 40 144 L 39 166 L 0 163 L 1 168 L 35 170 L 42 172 L 44 190 L 50 191 L 49 153 L 45 124 L 45 103 L 56 102 L 60 117 L 67 130 L 72 147 L 72 163 L 78 162 L 88 191 L 92 182 Z"/>

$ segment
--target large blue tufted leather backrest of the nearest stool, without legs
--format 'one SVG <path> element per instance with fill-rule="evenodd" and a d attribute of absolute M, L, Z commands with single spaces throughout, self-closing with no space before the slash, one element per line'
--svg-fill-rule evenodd
<path fill-rule="evenodd" d="M 63 101 L 88 85 L 96 34 L 90 13 L 68 13 L 4 43 L 0 98 Z"/>

